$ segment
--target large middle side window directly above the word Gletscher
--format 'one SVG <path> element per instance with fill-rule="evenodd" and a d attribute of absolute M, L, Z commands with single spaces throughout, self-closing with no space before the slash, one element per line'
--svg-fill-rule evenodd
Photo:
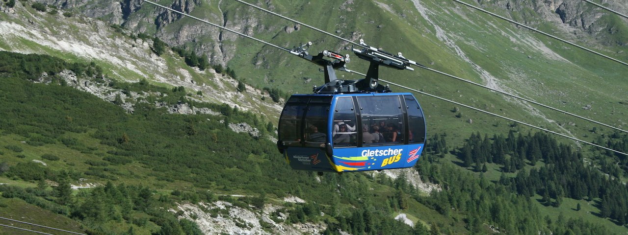
<path fill-rule="evenodd" d="M 357 97 L 362 113 L 362 130 L 368 129 L 373 137 L 365 138 L 363 145 L 398 144 L 403 142 L 403 113 L 399 96 Z"/>

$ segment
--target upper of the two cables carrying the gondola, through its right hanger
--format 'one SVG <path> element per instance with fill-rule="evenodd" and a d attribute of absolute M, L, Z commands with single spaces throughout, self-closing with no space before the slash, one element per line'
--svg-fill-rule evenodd
<path fill-rule="evenodd" d="M 345 41 L 345 42 L 347 42 L 347 43 L 354 44 L 355 46 L 360 46 L 360 47 L 362 47 L 362 48 L 369 48 L 368 46 L 364 46 L 363 44 L 355 43 L 354 41 L 350 41 L 349 39 L 345 39 L 345 38 L 342 38 L 342 37 L 337 36 L 337 35 L 335 35 L 335 34 L 328 33 L 327 31 L 323 31 L 322 29 L 318 29 L 318 28 L 315 28 L 315 27 L 310 26 L 310 25 L 308 25 L 308 24 L 301 23 L 301 22 L 299 22 L 299 21 L 296 21 L 295 19 L 291 19 L 291 18 L 288 18 L 288 17 L 283 16 L 283 15 L 281 15 L 281 14 L 274 13 L 273 11 L 269 11 L 269 10 L 267 10 L 267 9 L 260 8 L 259 6 L 255 6 L 255 5 L 250 4 L 250 3 L 247 3 L 247 2 L 245 2 L 245 1 L 242 1 L 242 0 L 235 0 L 235 1 L 237 1 L 237 2 L 239 2 L 239 3 L 242 3 L 242 4 L 246 4 L 247 6 L 251 6 L 252 8 L 259 9 L 260 11 L 264 11 L 265 13 L 273 14 L 274 16 L 279 16 L 280 18 L 287 19 L 288 21 L 292 21 L 293 23 L 301 24 L 301 25 L 303 25 L 303 26 L 306 26 L 307 28 L 313 29 L 313 30 L 318 31 L 318 32 L 320 32 L 320 33 L 327 34 L 328 36 L 332 36 L 332 37 L 334 37 L 334 38 L 340 39 L 340 40 Z M 374 51 L 377 51 L 377 49 L 376 49 L 376 48 L 372 48 L 372 47 L 371 47 L 371 48 L 369 48 L 369 49 L 374 50 Z M 603 125 L 604 127 L 609 127 L 609 128 L 615 129 L 615 130 L 619 130 L 620 132 L 625 132 L 625 133 L 628 133 L 628 130 L 623 130 L 623 129 L 621 129 L 621 128 L 613 127 L 612 125 L 607 125 L 607 124 L 605 124 L 605 123 L 598 122 L 598 121 L 596 121 L 596 120 L 592 120 L 592 119 L 590 119 L 590 118 L 582 117 L 582 116 L 577 115 L 577 114 L 574 114 L 574 113 L 570 113 L 570 112 L 566 112 L 566 111 L 564 111 L 564 110 L 560 110 L 560 109 L 558 109 L 558 108 L 550 107 L 550 106 L 548 106 L 548 105 L 544 105 L 544 104 L 542 104 L 542 103 L 538 103 L 538 102 L 535 102 L 535 101 L 533 101 L 533 100 L 529 100 L 528 98 L 519 97 L 519 96 L 517 96 L 517 95 L 513 95 L 513 94 L 511 94 L 511 93 L 507 93 L 506 91 L 497 90 L 497 89 L 491 88 L 491 87 L 489 87 L 489 86 L 485 86 L 485 85 L 482 85 L 482 84 L 479 84 L 479 83 L 475 83 L 474 81 L 465 80 L 464 78 L 460 78 L 460 77 L 458 77 L 458 76 L 454 76 L 454 75 L 450 75 L 450 74 L 445 73 L 445 72 L 442 72 L 442 71 L 434 70 L 434 69 L 432 69 L 432 68 L 428 68 L 428 67 L 426 67 L 426 66 L 423 66 L 423 65 L 421 65 L 421 64 L 418 64 L 418 63 L 416 63 L 415 61 L 412 61 L 412 60 L 408 60 L 408 63 L 410 63 L 411 65 L 418 66 L 419 68 L 423 68 L 423 69 L 425 69 L 425 70 L 433 71 L 434 73 L 438 73 L 438 74 L 440 74 L 440 75 L 445 75 L 445 76 L 448 76 L 448 77 L 450 77 L 450 78 L 455 78 L 455 79 L 460 80 L 460 81 L 465 81 L 465 82 L 470 83 L 470 84 L 472 84 L 472 85 L 480 86 L 480 87 L 482 87 L 482 88 L 486 88 L 486 89 L 489 89 L 489 90 L 492 90 L 492 91 L 495 91 L 495 92 L 498 92 L 498 93 L 502 93 L 503 95 L 507 95 L 507 96 L 509 96 L 509 97 L 513 97 L 513 98 L 517 98 L 517 99 L 519 99 L 519 100 L 523 100 L 523 101 L 525 101 L 525 102 L 533 103 L 533 104 L 535 104 L 535 105 L 539 105 L 539 106 L 544 107 L 544 108 L 549 108 L 549 109 L 554 110 L 554 111 L 556 111 L 556 112 L 564 113 L 564 114 L 566 114 L 566 115 L 571 115 L 572 117 L 577 117 L 577 118 L 580 118 L 580 119 L 582 119 L 582 120 L 587 120 L 588 122 L 593 122 L 593 123 L 596 123 L 596 124 L 598 124 L 598 125 Z"/>

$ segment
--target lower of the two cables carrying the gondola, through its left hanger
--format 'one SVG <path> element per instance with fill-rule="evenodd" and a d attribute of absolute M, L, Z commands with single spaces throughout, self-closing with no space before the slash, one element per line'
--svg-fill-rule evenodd
<path fill-rule="evenodd" d="M 146 3 L 151 3 L 151 2 L 150 2 L 150 1 L 148 1 L 148 0 L 142 0 L 142 1 L 144 1 L 144 2 L 146 2 Z M 236 0 L 236 1 L 239 1 L 239 0 Z M 176 13 L 181 13 L 180 11 L 176 11 L 176 10 L 173 10 L 173 9 L 171 9 L 171 8 L 166 8 L 165 6 L 161 6 L 160 4 L 156 4 L 156 3 L 151 3 L 151 4 L 153 4 L 153 5 L 155 5 L 155 6 L 159 6 L 160 8 L 169 9 L 169 10 L 174 11 L 174 12 L 176 12 Z M 189 17 L 191 17 L 191 18 L 193 18 L 193 19 L 197 19 L 198 21 L 201 21 L 201 22 L 203 22 L 203 23 L 208 23 L 208 24 L 211 24 L 211 25 L 213 25 L 213 26 L 217 26 L 217 24 L 209 23 L 208 21 L 205 21 L 205 20 L 202 20 L 202 19 L 195 18 L 195 17 L 193 17 L 193 16 L 190 16 L 189 14 L 185 14 L 185 13 L 181 13 L 181 14 L 183 14 L 184 16 L 189 16 Z M 219 28 L 222 28 L 222 29 L 225 29 L 225 30 L 227 30 L 227 31 L 230 31 L 230 32 L 232 32 L 232 33 L 236 33 L 235 31 L 232 31 L 231 29 L 227 29 L 227 28 L 224 28 L 224 27 L 222 27 L 222 26 L 218 26 L 218 27 L 219 27 Z M 241 34 L 241 33 L 237 33 L 237 34 L 239 34 L 239 35 L 241 35 L 241 36 L 246 36 L 246 35 Z M 264 43 L 264 44 L 271 44 L 271 43 L 268 43 L 268 42 L 266 42 L 266 41 L 262 41 L 261 39 L 256 39 L 256 38 L 253 38 L 253 37 L 251 37 L 251 36 L 246 36 L 246 38 L 255 39 L 255 41 L 259 41 L 259 42 Z M 344 39 L 344 40 L 346 40 L 346 39 Z M 277 48 L 281 48 L 281 47 L 279 47 L 279 46 L 276 46 L 276 47 L 277 47 Z M 363 47 L 365 47 L 365 46 L 363 46 Z M 281 48 L 281 49 L 282 49 L 282 50 L 287 50 L 286 48 Z M 372 48 L 372 47 L 371 47 L 371 49 L 375 49 L 375 48 Z M 375 50 L 377 50 L 377 49 L 375 49 Z M 290 51 L 290 50 L 288 50 L 288 51 Z M 293 54 L 293 53 L 291 52 L 291 54 Z M 413 61 L 413 62 L 414 62 L 414 61 Z M 349 71 L 350 73 L 355 73 L 355 74 L 358 74 L 358 75 L 366 76 L 364 73 L 360 73 L 360 72 L 357 72 L 357 71 L 351 71 L 351 70 L 347 70 L 347 71 Z M 503 117 L 503 116 L 501 116 L 501 115 L 497 115 L 497 114 L 495 114 L 495 113 L 491 113 L 491 112 L 488 112 L 488 111 L 485 111 L 485 110 L 480 110 L 479 108 L 470 107 L 470 106 L 468 106 L 468 105 L 464 105 L 464 104 L 462 104 L 462 103 L 454 102 L 454 101 L 452 101 L 452 100 L 448 100 L 448 99 L 446 99 L 446 98 L 441 98 L 441 97 L 438 97 L 438 96 L 436 96 L 436 95 L 431 95 L 431 94 L 429 94 L 429 93 L 425 93 L 425 92 L 423 92 L 423 91 L 419 91 L 419 90 L 416 90 L 416 89 L 408 88 L 407 86 L 398 85 L 398 84 L 396 84 L 396 83 L 392 83 L 392 82 L 385 81 L 385 80 L 381 80 L 381 79 L 380 79 L 380 81 L 384 81 L 384 82 L 390 83 L 391 85 L 395 85 L 395 86 L 399 86 L 399 87 L 401 87 L 401 88 L 405 88 L 405 89 L 408 89 L 408 90 L 411 90 L 411 91 L 415 91 L 415 92 L 417 92 L 417 93 L 421 93 L 421 94 L 423 94 L 423 95 L 427 95 L 427 96 L 429 96 L 429 97 L 433 97 L 433 98 L 437 98 L 437 99 L 440 99 L 440 100 L 444 100 L 444 101 L 446 101 L 446 102 L 455 103 L 455 104 L 460 105 L 460 106 L 462 106 L 462 107 L 467 107 L 467 108 L 471 108 L 471 109 L 473 109 L 473 110 L 477 110 L 477 111 L 479 111 L 479 112 L 487 113 L 487 114 L 489 114 L 489 115 L 493 115 L 493 116 L 495 116 L 495 117 L 500 117 L 500 118 L 504 118 L 504 119 L 509 120 L 509 121 L 512 121 L 512 122 L 521 123 L 522 125 L 526 125 L 526 126 L 528 126 L 528 127 L 533 127 L 533 128 L 537 128 L 537 129 L 539 129 L 539 130 L 543 130 L 543 131 L 545 131 L 545 132 L 554 133 L 554 134 L 556 134 L 556 135 L 560 135 L 560 136 L 562 136 L 562 137 L 570 138 L 571 140 L 576 140 L 576 141 L 579 141 L 579 142 L 583 142 L 583 143 L 585 143 L 585 144 L 593 145 L 593 146 L 595 146 L 595 147 L 600 147 L 600 148 L 605 149 L 605 150 L 609 150 L 609 151 L 612 151 L 612 152 L 616 152 L 617 154 L 623 154 L 623 155 L 627 155 L 627 156 L 628 156 L 628 154 L 625 154 L 625 153 L 623 153 L 623 152 L 619 152 L 619 151 L 614 150 L 614 149 L 609 149 L 609 148 L 607 148 L 607 147 L 600 146 L 600 145 L 597 145 L 597 144 L 593 144 L 593 143 L 590 143 L 590 142 L 587 142 L 587 141 L 584 141 L 584 140 L 580 140 L 580 139 L 578 139 L 578 138 L 569 137 L 569 136 L 564 135 L 564 134 L 561 134 L 561 133 L 553 132 L 553 131 L 551 131 L 551 130 L 547 130 L 547 129 L 544 129 L 544 128 L 541 128 L 541 127 L 536 127 L 536 126 L 534 126 L 534 125 L 531 125 L 531 124 L 528 124 L 528 123 L 524 123 L 524 122 L 521 122 L 521 121 L 517 121 L 517 120 L 514 120 L 514 119 L 512 119 L 512 118 Z"/>

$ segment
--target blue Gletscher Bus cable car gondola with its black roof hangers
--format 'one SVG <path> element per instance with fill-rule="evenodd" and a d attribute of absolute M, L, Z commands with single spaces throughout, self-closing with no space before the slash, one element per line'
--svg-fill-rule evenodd
<path fill-rule="evenodd" d="M 292 95 L 281 112 L 277 146 L 288 164 L 317 172 L 413 167 L 425 144 L 423 110 L 411 93 L 393 93 L 377 83 L 379 65 L 411 70 L 408 60 L 371 47 L 354 49 L 371 62 L 366 78 L 338 80 L 333 70 L 350 71 L 349 55 L 311 56 L 309 45 L 291 53 L 323 66 L 326 83 L 312 94 Z"/>

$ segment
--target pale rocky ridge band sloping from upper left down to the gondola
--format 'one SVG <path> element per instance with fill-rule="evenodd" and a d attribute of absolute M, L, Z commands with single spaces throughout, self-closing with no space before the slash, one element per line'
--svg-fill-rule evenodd
<path fill-rule="evenodd" d="M 152 41 L 122 36 L 102 21 L 92 18 L 68 19 L 58 16 L 63 21 L 55 23 L 46 19 L 50 17 L 47 13 L 28 14 L 25 9 L 21 4 L 16 4 L 13 13 L 8 13 L 11 14 L 8 18 L 10 20 L 0 21 L 0 31 L 3 32 L 0 38 L 7 42 L 4 46 L 0 46 L 0 50 L 19 53 L 55 51 L 58 54 L 53 53 L 53 55 L 73 55 L 85 61 L 100 61 L 106 64 L 105 67 L 112 68 L 106 70 L 112 78 L 133 82 L 145 78 L 158 83 L 184 86 L 189 91 L 201 91 L 204 94 L 195 97 L 198 102 L 227 103 L 231 107 L 238 107 L 245 111 L 269 110 L 270 112 L 266 114 L 270 120 L 275 120 L 277 113 L 281 110 L 278 103 L 266 101 L 270 99 L 264 98 L 268 96 L 264 91 L 247 86 L 246 93 L 237 92 L 237 80 L 215 73 L 212 69 L 200 71 L 198 68 L 185 66 L 181 61 L 178 61 L 178 65 L 171 66 L 166 58 L 173 58 L 171 56 L 178 58 L 172 52 L 168 55 L 157 56 L 151 50 Z M 126 34 L 131 33 L 126 31 Z M 21 40 L 40 45 L 40 47 L 24 46 Z M 184 66 L 185 68 L 182 68 Z M 78 82 L 75 76 L 70 74 L 67 79 L 68 84 L 75 84 L 78 89 L 88 91 L 105 100 L 112 101 L 119 93 L 117 91 L 112 93 L 104 86 Z M 185 108 L 173 107 L 172 109 L 177 113 L 186 113 Z M 133 111 L 132 107 L 127 110 Z M 203 110 L 192 111 L 204 112 Z"/>

